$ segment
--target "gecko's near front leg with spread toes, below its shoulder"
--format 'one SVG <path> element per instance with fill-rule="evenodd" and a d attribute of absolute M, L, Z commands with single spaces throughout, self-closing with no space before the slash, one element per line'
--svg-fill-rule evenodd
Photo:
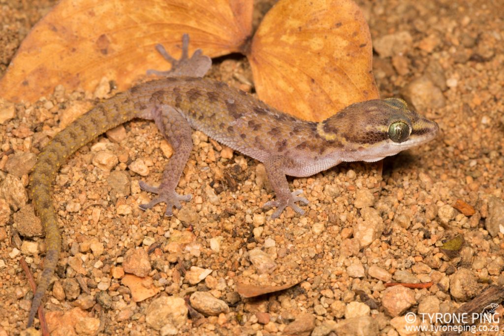
<path fill-rule="evenodd" d="M 292 162 L 290 162 L 290 160 L 280 156 L 272 157 L 264 161 L 268 179 L 277 196 L 277 200 L 270 200 L 264 205 L 265 208 L 277 207 L 277 210 L 271 216 L 272 219 L 278 218 L 287 207 L 291 207 L 295 212 L 303 215 L 304 210 L 299 208 L 295 203 L 301 202 L 305 205 L 308 204 L 306 198 L 298 196 L 303 190 L 291 192 L 289 189 L 289 184 L 285 177 L 285 167 L 291 164 Z"/>

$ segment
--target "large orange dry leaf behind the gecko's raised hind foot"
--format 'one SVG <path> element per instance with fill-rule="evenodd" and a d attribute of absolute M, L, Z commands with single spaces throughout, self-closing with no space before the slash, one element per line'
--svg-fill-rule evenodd
<path fill-rule="evenodd" d="M 62 0 L 32 29 L 5 76 L 0 97 L 36 101 L 63 84 L 92 91 L 106 77 L 125 90 L 148 69 L 169 64 L 156 52 L 163 44 L 180 54 L 181 36 L 190 52 L 220 56 L 239 51 L 251 35 L 251 0 Z"/>

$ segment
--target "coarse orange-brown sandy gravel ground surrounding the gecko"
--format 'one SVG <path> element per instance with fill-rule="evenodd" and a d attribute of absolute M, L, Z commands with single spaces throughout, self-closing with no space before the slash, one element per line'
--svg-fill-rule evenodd
<path fill-rule="evenodd" d="M 31 25 L 53 3 L 0 1 L 0 76 Z M 193 200 L 172 218 L 162 216 L 164 205 L 142 212 L 137 205 L 152 195 L 141 191 L 138 181 L 159 180 L 169 149 L 151 122 L 119 127 L 79 150 L 56 178 L 54 204 L 64 250 L 45 308 L 74 309 L 74 315 L 50 314 L 54 330 L 61 323 L 77 334 L 143 335 L 161 328 L 163 334 L 362 330 L 397 335 L 407 334 L 407 312 L 454 312 L 489 284 L 504 285 L 504 227 L 499 226 L 504 226 L 504 5 L 358 3 L 373 38 L 381 96 L 414 104 L 438 122 L 440 135 L 387 158 L 382 176 L 375 164 L 351 163 L 291 179 L 291 189 L 303 189 L 310 201 L 306 215 L 288 210 L 270 221 L 272 212 L 261 208 L 273 196 L 264 167 L 201 132 L 194 133 L 178 189 L 192 193 Z M 224 57 L 212 76 L 239 85 L 236 78 L 249 77 L 250 70 L 245 59 Z M 37 154 L 60 129 L 63 110 L 87 109 L 93 97 L 58 90 L 37 103 L 15 106 L 15 118 L 0 124 L 0 185 L 10 187 L 0 190 L 4 198 L 23 198 L 18 193 L 33 164 L 26 153 Z M 118 163 L 110 170 L 113 156 Z M 142 171 L 146 177 L 138 174 Z M 13 175 L 16 180 L 7 184 Z M 30 207 L 8 209 L 0 202 L 0 335 L 19 334 L 26 325 L 32 294 L 19 259 L 24 257 L 37 276 L 45 249 L 40 237 L 20 235 L 33 225 Z M 462 247 L 443 251 L 444 243 L 460 237 Z M 155 294 L 139 302 L 134 300 L 138 289 L 128 286 L 122 273 L 137 247 L 148 252 L 151 280 L 144 288 Z M 138 262 L 144 257 L 132 256 Z M 185 274 L 192 266 L 212 270 L 211 275 L 191 281 L 203 272 L 193 268 Z M 260 274 L 268 267 L 275 269 Z M 143 270 L 133 268 L 130 273 Z M 388 282 L 427 285 L 386 288 Z M 241 299 L 237 283 L 297 285 Z M 166 316 L 153 312 L 159 298 L 195 292 L 223 301 L 217 316 L 191 311 L 188 319 L 176 319 L 175 310 L 183 307 L 175 305 Z M 495 300 L 500 321 L 501 301 Z M 191 304 L 200 311 L 204 305 Z M 480 334 L 504 328 L 483 325 L 487 329 Z M 55 334 L 70 332 L 61 330 Z"/>

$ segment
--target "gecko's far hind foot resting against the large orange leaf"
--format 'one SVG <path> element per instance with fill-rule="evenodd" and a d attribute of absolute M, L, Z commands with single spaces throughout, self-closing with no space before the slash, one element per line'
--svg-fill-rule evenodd
<path fill-rule="evenodd" d="M 156 44 L 156 50 L 171 63 L 169 71 L 147 70 L 147 75 L 157 75 L 165 77 L 203 77 L 212 65 L 212 59 L 203 54 L 201 49 L 197 49 L 191 58 L 188 53 L 189 35 L 182 35 L 182 55 L 179 59 L 172 57 L 162 44 Z"/>

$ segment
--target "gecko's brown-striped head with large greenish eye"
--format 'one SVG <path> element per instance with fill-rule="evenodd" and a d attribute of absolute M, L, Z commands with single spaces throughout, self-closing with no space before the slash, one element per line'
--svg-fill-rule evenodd
<path fill-rule="evenodd" d="M 323 121 L 321 131 L 334 130 L 351 159 L 377 161 L 432 140 L 439 131 L 431 121 L 399 98 L 352 104 Z M 329 136 L 320 134 L 322 137 Z"/>

